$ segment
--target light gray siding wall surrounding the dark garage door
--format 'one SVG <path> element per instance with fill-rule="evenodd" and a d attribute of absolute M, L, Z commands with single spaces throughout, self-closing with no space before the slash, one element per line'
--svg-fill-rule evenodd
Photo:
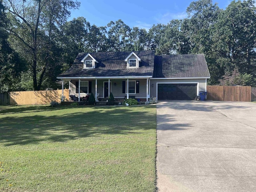
<path fill-rule="evenodd" d="M 198 83 L 198 91 L 206 91 L 206 79 L 151 79 L 150 80 L 150 98 L 157 97 L 157 83 Z M 154 85 L 152 87 L 152 84 Z"/>

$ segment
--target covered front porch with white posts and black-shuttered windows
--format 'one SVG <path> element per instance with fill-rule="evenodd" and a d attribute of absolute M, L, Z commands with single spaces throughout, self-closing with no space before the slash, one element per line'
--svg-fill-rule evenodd
<path fill-rule="evenodd" d="M 83 101 L 92 93 L 96 101 L 106 100 L 112 92 L 115 99 L 136 98 L 148 101 L 150 98 L 150 78 L 72 78 L 62 79 L 69 82 L 69 95 Z M 62 86 L 64 88 L 64 86 Z"/>

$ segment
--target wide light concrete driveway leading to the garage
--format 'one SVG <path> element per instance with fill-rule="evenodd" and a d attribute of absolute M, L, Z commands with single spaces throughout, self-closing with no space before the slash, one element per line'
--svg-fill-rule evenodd
<path fill-rule="evenodd" d="M 157 104 L 158 192 L 256 191 L 256 104 Z"/>

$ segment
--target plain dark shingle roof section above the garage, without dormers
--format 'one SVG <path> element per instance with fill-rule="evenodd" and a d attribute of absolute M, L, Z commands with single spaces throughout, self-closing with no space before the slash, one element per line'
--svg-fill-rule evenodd
<path fill-rule="evenodd" d="M 210 78 L 204 54 L 155 56 L 153 78 Z"/>

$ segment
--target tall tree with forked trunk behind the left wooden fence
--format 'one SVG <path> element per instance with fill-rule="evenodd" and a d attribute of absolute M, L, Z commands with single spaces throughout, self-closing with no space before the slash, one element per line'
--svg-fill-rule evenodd
<path fill-rule="evenodd" d="M 40 90 L 49 60 L 54 60 L 52 48 L 58 28 L 70 16 L 70 9 L 78 8 L 80 3 L 73 0 L 5 0 L 5 3 L 10 13 L 8 30 L 30 55 L 26 59 L 32 71 L 33 88 Z M 44 56 L 40 50 L 44 50 Z"/>

